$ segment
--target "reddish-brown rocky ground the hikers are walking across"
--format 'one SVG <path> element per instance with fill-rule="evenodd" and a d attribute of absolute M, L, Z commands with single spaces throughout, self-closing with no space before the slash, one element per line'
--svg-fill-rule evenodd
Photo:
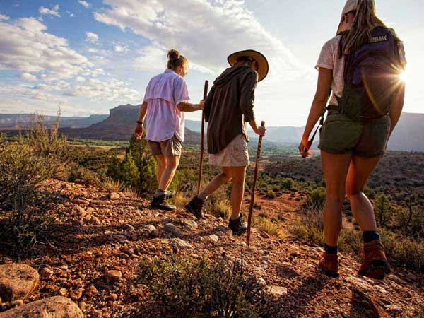
<path fill-rule="evenodd" d="M 0 269 L 0 317 L 9 317 L 11 307 L 17 310 L 52 296 L 72 300 L 84 317 L 136 317 L 148 293 L 135 281 L 139 258 L 172 254 L 230 259 L 243 254 L 247 272 L 271 287 L 281 307 L 279 317 L 417 317 L 423 306 L 421 273 L 395 268 L 386 280 L 373 281 L 356 276 L 358 260 L 343 254 L 340 278 L 327 278 L 316 267 L 322 249 L 304 245 L 285 229 L 284 238 L 253 229 L 247 247 L 245 237 L 232 237 L 221 218 L 196 220 L 181 208 L 153 211 L 146 200 L 79 184 L 49 181 L 46 187 L 64 197 L 66 217 L 55 230 L 60 235 L 24 257 L 0 250 L 0 264 L 5 264 L 3 274 Z M 272 208 L 288 220 L 300 204 L 289 196 L 268 205 L 259 200 L 261 213 Z M 31 276 L 27 290 L 6 299 L 1 295 L 8 280 L 5 269 L 17 263 L 35 269 L 39 282 Z"/>

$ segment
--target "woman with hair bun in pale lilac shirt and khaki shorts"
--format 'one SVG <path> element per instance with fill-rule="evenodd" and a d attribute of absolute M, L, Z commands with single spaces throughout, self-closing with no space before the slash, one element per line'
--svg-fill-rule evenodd
<path fill-rule="evenodd" d="M 203 109 L 203 101 L 190 104 L 189 92 L 184 76 L 189 70 L 189 61 L 171 49 L 168 54 L 167 69 L 149 81 L 141 105 L 135 136 L 141 139 L 146 119 L 146 140 L 152 155 L 157 160 L 156 179 L 159 187 L 151 201 L 151 208 L 173 211 L 175 206 L 167 199 L 175 196 L 168 191 L 175 175 L 184 141 L 184 112 Z"/>

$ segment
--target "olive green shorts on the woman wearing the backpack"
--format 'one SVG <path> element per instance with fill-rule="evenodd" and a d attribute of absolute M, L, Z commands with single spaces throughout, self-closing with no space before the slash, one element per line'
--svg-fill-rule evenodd
<path fill-rule="evenodd" d="M 376 158 L 384 155 L 390 126 L 389 115 L 368 122 L 355 122 L 334 112 L 328 115 L 322 126 L 318 148 L 326 153 Z"/>

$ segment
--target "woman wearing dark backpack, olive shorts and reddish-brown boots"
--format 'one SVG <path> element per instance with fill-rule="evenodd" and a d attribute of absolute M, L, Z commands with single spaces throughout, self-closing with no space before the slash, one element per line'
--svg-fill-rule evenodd
<path fill-rule="evenodd" d="M 374 210 L 363 189 L 399 121 L 405 93 L 400 74 L 405 65 L 404 46 L 378 18 L 375 1 L 348 0 L 336 37 L 324 44 L 319 56 L 317 93 L 299 146 L 302 156 L 309 155 L 309 136 L 326 108 L 318 146 L 326 182 L 325 252 L 319 267 L 329 276 L 338 276 L 346 194 L 363 232 L 364 259 L 358 274 L 383 279 L 390 273 Z"/>

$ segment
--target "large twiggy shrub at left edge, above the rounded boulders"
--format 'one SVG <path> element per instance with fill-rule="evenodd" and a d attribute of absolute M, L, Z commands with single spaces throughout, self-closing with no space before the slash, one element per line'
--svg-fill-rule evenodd
<path fill-rule="evenodd" d="M 0 144 L 0 213 L 6 216 L 4 227 L 16 245 L 37 242 L 56 218 L 40 190 L 52 177 L 52 156 L 40 155 L 26 141 Z"/>

